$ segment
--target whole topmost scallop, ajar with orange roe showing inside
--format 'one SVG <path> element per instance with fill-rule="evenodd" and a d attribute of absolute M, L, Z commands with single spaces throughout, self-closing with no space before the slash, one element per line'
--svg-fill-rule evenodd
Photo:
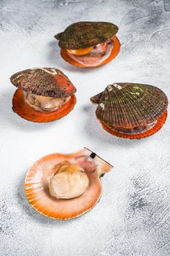
<path fill-rule="evenodd" d="M 56 34 L 61 56 L 78 67 L 98 67 L 114 59 L 120 51 L 115 36 L 118 27 L 108 22 L 80 21 Z"/>

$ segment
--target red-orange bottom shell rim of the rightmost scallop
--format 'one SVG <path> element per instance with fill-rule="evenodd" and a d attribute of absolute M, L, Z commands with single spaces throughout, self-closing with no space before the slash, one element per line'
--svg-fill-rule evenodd
<path fill-rule="evenodd" d="M 140 139 L 140 138 L 145 138 L 150 135 L 153 135 L 155 132 L 158 132 L 158 130 L 161 129 L 161 127 L 163 127 L 163 124 L 165 123 L 166 118 L 167 118 L 167 114 L 168 114 L 167 111 L 164 112 L 163 115 L 160 118 L 158 118 L 158 121 L 156 122 L 155 126 L 152 127 L 151 129 L 148 129 L 147 131 L 142 132 L 142 133 L 131 134 L 131 135 L 120 133 L 120 132 L 115 132 L 110 127 L 108 127 L 107 124 L 104 124 L 104 122 L 100 121 L 100 123 L 101 123 L 102 127 L 112 135 L 115 135 L 120 138 L 125 138 L 125 139 Z"/>

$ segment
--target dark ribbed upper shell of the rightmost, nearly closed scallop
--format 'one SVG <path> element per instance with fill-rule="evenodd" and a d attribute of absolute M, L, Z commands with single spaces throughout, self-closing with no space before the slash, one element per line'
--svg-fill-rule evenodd
<path fill-rule="evenodd" d="M 99 98 L 96 116 L 114 127 L 133 128 L 156 121 L 168 106 L 166 94 L 155 86 L 140 83 L 114 83 Z"/>

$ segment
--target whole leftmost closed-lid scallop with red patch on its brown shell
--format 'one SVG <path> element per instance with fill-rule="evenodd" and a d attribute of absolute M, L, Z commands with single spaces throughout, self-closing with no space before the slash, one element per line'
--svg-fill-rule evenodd
<path fill-rule="evenodd" d="M 76 88 L 59 69 L 31 68 L 17 72 L 12 109 L 28 121 L 47 122 L 66 116 L 76 104 Z"/>

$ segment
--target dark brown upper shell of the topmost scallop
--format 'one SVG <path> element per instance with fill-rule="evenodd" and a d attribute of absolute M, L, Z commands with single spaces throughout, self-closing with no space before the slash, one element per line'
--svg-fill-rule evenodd
<path fill-rule="evenodd" d="M 56 34 L 58 45 L 64 49 L 82 49 L 106 42 L 118 31 L 117 26 L 108 22 L 77 22 Z"/>

